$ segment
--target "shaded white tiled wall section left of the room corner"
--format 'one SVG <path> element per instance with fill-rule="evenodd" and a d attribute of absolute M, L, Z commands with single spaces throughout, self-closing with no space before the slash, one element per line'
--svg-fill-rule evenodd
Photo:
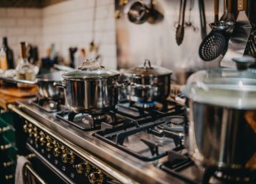
<path fill-rule="evenodd" d="M 19 57 L 19 42 L 40 45 L 41 9 L 0 8 L 0 40 L 4 36 L 8 37 L 16 60 Z"/>

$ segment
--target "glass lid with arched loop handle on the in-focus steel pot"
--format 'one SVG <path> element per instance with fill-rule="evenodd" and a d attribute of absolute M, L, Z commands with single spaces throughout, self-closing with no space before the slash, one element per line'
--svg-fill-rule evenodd
<path fill-rule="evenodd" d="M 82 66 L 80 66 L 75 71 L 69 71 L 64 73 L 63 78 L 74 78 L 74 79 L 82 79 L 82 78 L 109 78 L 114 76 L 119 76 L 118 71 L 109 70 L 101 66 L 98 61 L 92 58 L 86 59 Z"/>

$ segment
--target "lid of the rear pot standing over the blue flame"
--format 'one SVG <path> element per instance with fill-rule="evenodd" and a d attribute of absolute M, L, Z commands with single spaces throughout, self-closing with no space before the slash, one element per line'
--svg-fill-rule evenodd
<path fill-rule="evenodd" d="M 172 71 L 167 68 L 162 68 L 160 66 L 152 66 L 150 61 L 146 59 L 142 66 L 136 66 L 134 68 L 129 68 L 124 71 L 125 76 L 139 76 L 139 77 L 146 77 L 146 76 L 164 76 L 170 75 Z"/>

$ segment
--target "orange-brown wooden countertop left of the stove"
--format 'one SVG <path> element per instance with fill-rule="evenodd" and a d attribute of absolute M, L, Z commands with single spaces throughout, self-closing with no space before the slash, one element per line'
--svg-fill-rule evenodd
<path fill-rule="evenodd" d="M 9 103 L 32 100 L 36 98 L 37 93 L 37 88 L 21 89 L 15 87 L 0 86 L 0 108 L 7 110 Z"/>

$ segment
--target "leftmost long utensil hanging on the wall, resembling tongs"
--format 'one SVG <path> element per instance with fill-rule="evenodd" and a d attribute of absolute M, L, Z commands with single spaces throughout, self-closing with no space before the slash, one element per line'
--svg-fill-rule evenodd
<path fill-rule="evenodd" d="M 179 24 L 176 30 L 176 42 L 178 46 L 182 44 L 183 37 L 184 37 L 184 14 L 186 10 L 186 2 L 187 0 L 180 0 L 180 7 L 179 7 Z"/>

